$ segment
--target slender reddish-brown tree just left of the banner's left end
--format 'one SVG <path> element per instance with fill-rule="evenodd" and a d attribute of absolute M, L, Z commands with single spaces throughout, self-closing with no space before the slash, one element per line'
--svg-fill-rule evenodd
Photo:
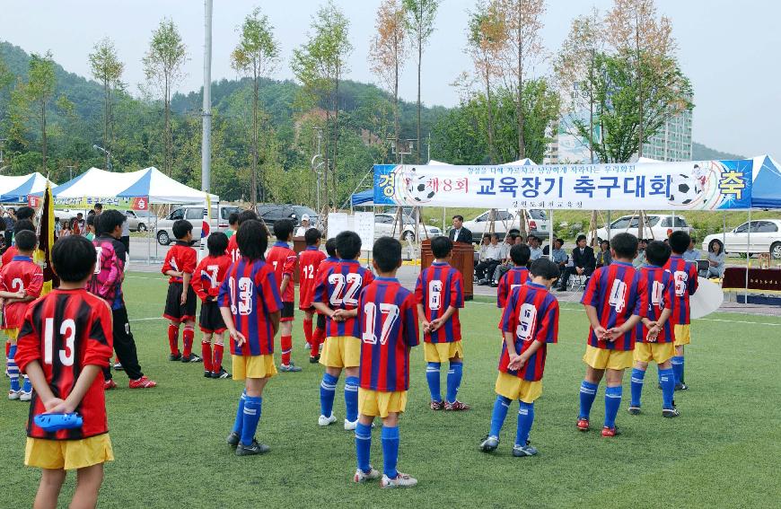
<path fill-rule="evenodd" d="M 393 134 L 399 143 L 399 74 L 407 54 L 405 13 L 399 0 L 383 0 L 369 48 L 372 71 L 393 93 Z M 419 144 L 418 144 L 419 146 Z M 397 151 L 397 162 L 398 162 Z"/>

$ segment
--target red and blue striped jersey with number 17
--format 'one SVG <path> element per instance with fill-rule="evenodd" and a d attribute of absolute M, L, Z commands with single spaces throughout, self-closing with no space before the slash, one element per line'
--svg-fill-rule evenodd
<path fill-rule="evenodd" d="M 409 349 L 419 343 L 415 294 L 393 277 L 377 277 L 361 292 L 361 388 L 409 389 Z"/>

